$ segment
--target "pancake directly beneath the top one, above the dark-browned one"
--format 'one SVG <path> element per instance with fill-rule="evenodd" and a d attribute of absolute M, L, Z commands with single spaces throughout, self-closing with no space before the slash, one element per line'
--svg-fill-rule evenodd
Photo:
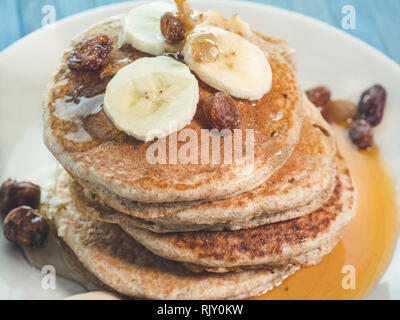
<path fill-rule="evenodd" d="M 83 187 L 74 184 L 73 197 L 81 210 L 103 222 L 153 232 L 238 230 L 311 213 L 330 198 L 335 187 L 336 144 L 320 112 L 307 99 L 304 101 L 307 116 L 292 156 L 250 192 L 215 202 L 146 204 L 79 181 Z M 93 193 L 95 189 L 102 190 L 98 196 Z"/>

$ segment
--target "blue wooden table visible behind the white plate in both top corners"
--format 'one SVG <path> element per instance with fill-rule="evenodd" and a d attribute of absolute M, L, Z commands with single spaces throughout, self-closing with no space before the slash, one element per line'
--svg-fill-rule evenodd
<path fill-rule="evenodd" d="M 55 9 L 56 19 L 126 0 L 0 0 L 0 50 L 42 26 Z M 400 0 L 249 0 L 296 11 L 342 28 L 345 6 L 353 6 L 356 29 L 346 32 L 400 63 Z M 47 7 L 46 7 L 47 6 Z"/>

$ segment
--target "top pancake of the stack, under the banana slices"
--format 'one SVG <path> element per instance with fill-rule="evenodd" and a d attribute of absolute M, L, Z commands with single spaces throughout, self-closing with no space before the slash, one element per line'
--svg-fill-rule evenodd
<path fill-rule="evenodd" d="M 120 17 L 111 18 L 79 35 L 72 45 L 97 35 L 107 35 L 116 44 L 120 29 Z M 265 40 L 260 37 L 259 41 Z M 66 64 L 71 50 L 64 54 L 46 90 L 44 140 L 76 179 L 88 181 L 97 189 L 105 188 L 111 194 L 140 202 L 223 199 L 261 185 L 286 162 L 298 143 L 303 122 L 302 95 L 293 67 L 276 52 L 266 52 L 273 71 L 271 91 L 259 101 L 234 99 L 243 132 L 254 130 L 254 166 L 249 166 L 246 162 L 150 164 L 146 151 L 152 142 L 144 143 L 118 131 L 102 110 L 105 88 L 115 72 L 147 55 L 129 46 L 114 48 L 107 66 L 77 74 L 70 72 Z M 215 92 L 201 81 L 199 87 L 200 103 Z M 195 130 L 198 137 L 206 128 L 201 112 L 186 127 Z M 178 142 L 178 150 L 185 143 Z M 245 154 L 245 143 L 243 146 Z"/>

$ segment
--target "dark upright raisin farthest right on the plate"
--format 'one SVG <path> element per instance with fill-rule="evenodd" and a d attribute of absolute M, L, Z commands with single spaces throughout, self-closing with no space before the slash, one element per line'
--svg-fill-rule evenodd
<path fill-rule="evenodd" d="M 362 94 L 358 104 L 358 118 L 376 127 L 382 121 L 385 106 L 386 90 L 381 85 L 375 85 Z"/>

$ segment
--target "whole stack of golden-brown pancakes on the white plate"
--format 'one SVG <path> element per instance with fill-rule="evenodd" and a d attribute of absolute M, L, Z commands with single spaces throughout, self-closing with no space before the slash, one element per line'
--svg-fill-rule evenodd
<path fill-rule="evenodd" d="M 111 18 L 72 45 L 98 35 L 117 43 L 120 28 Z M 65 53 L 44 103 L 46 145 L 68 172 L 50 216 L 84 274 L 130 297 L 246 298 L 335 247 L 355 213 L 349 170 L 299 88 L 289 46 L 259 32 L 248 40 L 273 72 L 261 100 L 235 99 L 242 129 L 254 130 L 251 167 L 149 164 L 152 142 L 118 131 L 101 110 L 112 76 L 146 55 L 115 46 L 101 70 L 76 74 L 66 63 L 72 47 Z M 199 85 L 201 104 L 216 90 Z M 198 112 L 188 128 L 204 127 Z"/>

